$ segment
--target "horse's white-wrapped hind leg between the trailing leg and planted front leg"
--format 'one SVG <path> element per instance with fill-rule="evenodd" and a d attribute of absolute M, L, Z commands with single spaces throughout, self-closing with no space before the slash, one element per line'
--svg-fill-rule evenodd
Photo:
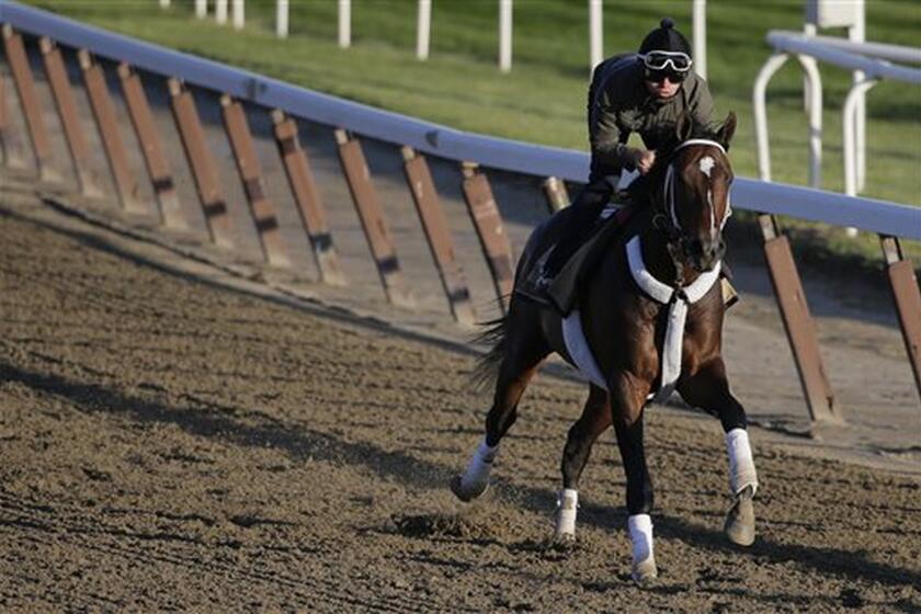
<path fill-rule="evenodd" d="M 579 478 L 589 461 L 599 435 L 611 427 L 611 403 L 607 391 L 591 386 L 582 416 L 569 429 L 562 450 L 562 490 L 557 498 L 555 537 L 569 541 L 576 537 L 576 514 L 579 507 Z"/>

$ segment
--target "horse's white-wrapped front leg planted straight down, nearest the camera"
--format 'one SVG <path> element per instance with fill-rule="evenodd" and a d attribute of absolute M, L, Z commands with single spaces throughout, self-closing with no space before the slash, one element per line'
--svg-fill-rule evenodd
<path fill-rule="evenodd" d="M 611 410 L 617 447 L 627 476 L 627 530 L 633 545 L 633 578 L 646 583 L 658 577 L 652 548 L 652 480 L 643 443 L 643 410 L 650 385 L 622 374 L 612 378 Z"/>

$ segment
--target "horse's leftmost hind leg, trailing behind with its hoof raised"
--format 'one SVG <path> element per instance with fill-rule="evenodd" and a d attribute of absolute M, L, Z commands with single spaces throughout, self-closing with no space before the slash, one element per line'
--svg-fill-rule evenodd
<path fill-rule="evenodd" d="M 519 400 L 537 367 L 550 353 L 536 318 L 533 326 L 526 326 L 528 315 L 528 311 L 514 309 L 509 312 L 508 350 L 499 367 L 492 407 L 486 417 L 486 436 L 474 451 L 464 474 L 451 481 L 451 490 L 462 501 L 470 501 L 486 492 L 499 443 L 518 418 Z"/>

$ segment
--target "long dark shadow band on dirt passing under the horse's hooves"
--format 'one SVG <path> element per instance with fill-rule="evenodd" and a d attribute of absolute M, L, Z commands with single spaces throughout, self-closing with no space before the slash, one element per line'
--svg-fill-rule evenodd
<path fill-rule="evenodd" d="M 303 425 L 285 423 L 255 410 L 237 407 L 192 408 L 170 407 L 156 400 L 124 395 L 106 386 L 75 382 L 55 374 L 24 371 L 8 360 L 0 360 L 0 379 L 20 383 L 33 390 L 64 397 L 81 411 L 124 416 L 140 423 L 157 422 L 173 424 L 185 432 L 241 446 L 262 447 L 271 445 L 285 451 L 294 461 L 316 458 L 325 462 L 360 465 L 380 478 L 394 480 L 420 489 L 443 489 L 451 475 L 451 468 L 414 458 L 401 452 L 389 452 L 365 442 L 348 442 L 328 433 L 305 429 Z M 461 459 L 458 459 L 459 462 Z M 494 480 L 497 490 L 514 492 L 509 503 L 520 504 L 532 512 L 545 514 L 553 504 L 553 494 L 542 489 L 522 488 L 502 479 Z M 590 510 L 587 510 L 590 511 Z M 605 531 L 614 531 L 624 524 L 623 510 L 602 514 L 585 513 L 582 521 Z M 464 523 L 459 516 L 432 516 L 397 519 L 400 533 L 406 535 L 444 535 L 451 537 L 470 536 L 476 539 L 481 533 L 477 525 Z M 694 547 L 713 553 L 738 554 L 719 531 L 707 528 L 682 519 L 657 515 L 657 531 L 664 537 L 680 539 Z M 764 538 L 746 550 L 749 556 L 766 564 L 795 562 L 811 567 L 822 573 L 846 578 L 905 585 L 921 583 L 921 575 L 868 560 L 856 552 L 834 548 L 815 548 L 780 544 Z"/>

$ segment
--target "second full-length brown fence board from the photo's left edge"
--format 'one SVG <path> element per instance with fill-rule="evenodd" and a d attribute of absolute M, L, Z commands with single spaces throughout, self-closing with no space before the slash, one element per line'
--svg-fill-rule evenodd
<path fill-rule="evenodd" d="M 70 161 L 73 164 L 75 174 L 80 183 L 80 191 L 88 196 L 101 195 L 89 168 L 90 146 L 87 143 L 83 126 L 80 124 L 77 102 L 73 98 L 73 91 L 70 89 L 70 79 L 67 77 L 61 52 L 47 37 L 39 41 L 39 47 L 45 75 L 52 89 L 52 98 L 54 98 L 60 124 L 64 127 L 65 140 L 67 140 L 67 147 L 70 151 Z"/>

